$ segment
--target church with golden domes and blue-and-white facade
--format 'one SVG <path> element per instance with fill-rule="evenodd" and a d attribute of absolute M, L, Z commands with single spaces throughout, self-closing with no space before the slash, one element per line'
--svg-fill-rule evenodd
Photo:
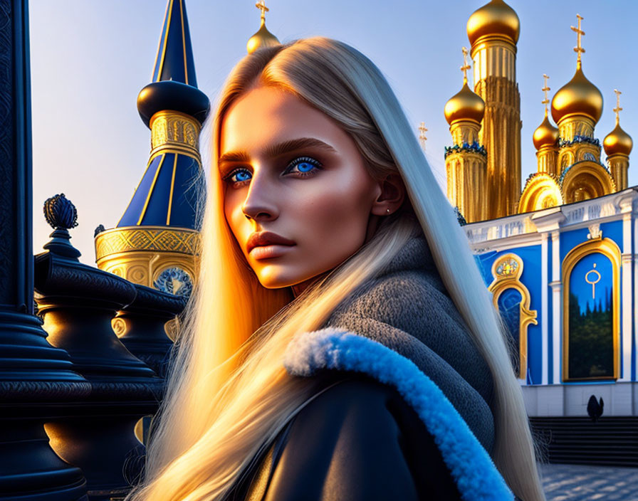
<path fill-rule="evenodd" d="M 574 76 L 551 101 L 544 75 L 545 116 L 530 138 L 538 172 L 522 191 L 520 21 L 503 0 L 469 17 L 474 90 L 465 60 L 463 86 L 444 108 L 452 136 L 447 196 L 513 337 L 516 374 L 539 427 L 555 418 L 587 420 L 588 407 L 590 414 L 604 408 L 610 419 L 638 416 L 638 193 L 627 186 L 632 138 L 620 126 L 617 90 L 616 126 L 602 145 L 596 137 L 602 94 L 583 72 L 582 19 L 571 27 Z M 585 421 L 564 422 L 578 428 Z M 634 450 L 627 464 L 637 461 Z"/>

